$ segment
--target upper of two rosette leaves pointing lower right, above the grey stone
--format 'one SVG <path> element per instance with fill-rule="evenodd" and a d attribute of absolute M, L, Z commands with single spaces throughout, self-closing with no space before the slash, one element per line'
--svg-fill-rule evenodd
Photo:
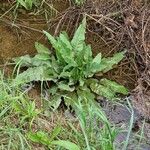
<path fill-rule="evenodd" d="M 124 86 L 122 86 L 114 81 L 110 81 L 110 80 L 104 78 L 104 79 L 100 80 L 100 84 L 110 88 L 115 93 L 121 93 L 124 95 L 128 94 L 128 90 Z"/>

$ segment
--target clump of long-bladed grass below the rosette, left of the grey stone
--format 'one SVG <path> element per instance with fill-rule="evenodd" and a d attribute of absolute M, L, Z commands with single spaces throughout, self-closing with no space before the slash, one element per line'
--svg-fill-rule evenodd
<path fill-rule="evenodd" d="M 81 131 L 71 125 L 72 136 L 79 145 L 87 150 L 113 150 L 117 130 L 107 120 L 102 109 L 93 102 L 86 106 L 81 102 L 76 104 L 76 115 L 79 120 Z"/>

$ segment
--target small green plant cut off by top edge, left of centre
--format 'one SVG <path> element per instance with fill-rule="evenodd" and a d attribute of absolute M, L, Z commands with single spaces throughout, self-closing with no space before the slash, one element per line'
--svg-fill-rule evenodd
<path fill-rule="evenodd" d="M 16 0 L 17 6 L 23 6 L 27 10 L 31 10 L 33 5 L 36 6 L 37 0 Z"/>

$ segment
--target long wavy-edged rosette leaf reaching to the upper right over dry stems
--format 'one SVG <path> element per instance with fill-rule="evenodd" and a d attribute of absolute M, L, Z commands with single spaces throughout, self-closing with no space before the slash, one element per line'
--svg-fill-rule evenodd
<path fill-rule="evenodd" d="M 102 71 L 103 73 L 113 69 L 115 64 L 118 64 L 124 58 L 125 51 L 114 54 L 113 57 L 102 58 L 101 60 L 101 67 L 98 70 L 99 72 Z"/>

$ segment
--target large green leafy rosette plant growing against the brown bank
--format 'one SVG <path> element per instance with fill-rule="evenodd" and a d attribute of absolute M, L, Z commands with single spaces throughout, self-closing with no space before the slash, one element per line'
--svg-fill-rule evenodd
<path fill-rule="evenodd" d="M 113 69 L 124 57 L 125 52 L 119 52 L 112 57 L 103 58 L 101 53 L 93 58 L 90 45 L 85 44 L 86 19 L 76 30 L 72 40 L 65 32 L 54 38 L 44 31 L 55 51 L 40 43 L 35 43 L 37 54 L 14 58 L 20 67 L 28 69 L 16 76 L 14 86 L 24 85 L 31 81 L 51 81 L 51 106 L 55 110 L 64 98 L 67 105 L 69 96 L 79 97 L 83 89 L 96 93 L 108 99 L 116 98 L 118 93 L 128 94 L 128 90 L 108 79 L 97 80 L 92 78 L 97 72 L 106 73 Z M 78 98 L 77 98 L 78 99 Z"/>

